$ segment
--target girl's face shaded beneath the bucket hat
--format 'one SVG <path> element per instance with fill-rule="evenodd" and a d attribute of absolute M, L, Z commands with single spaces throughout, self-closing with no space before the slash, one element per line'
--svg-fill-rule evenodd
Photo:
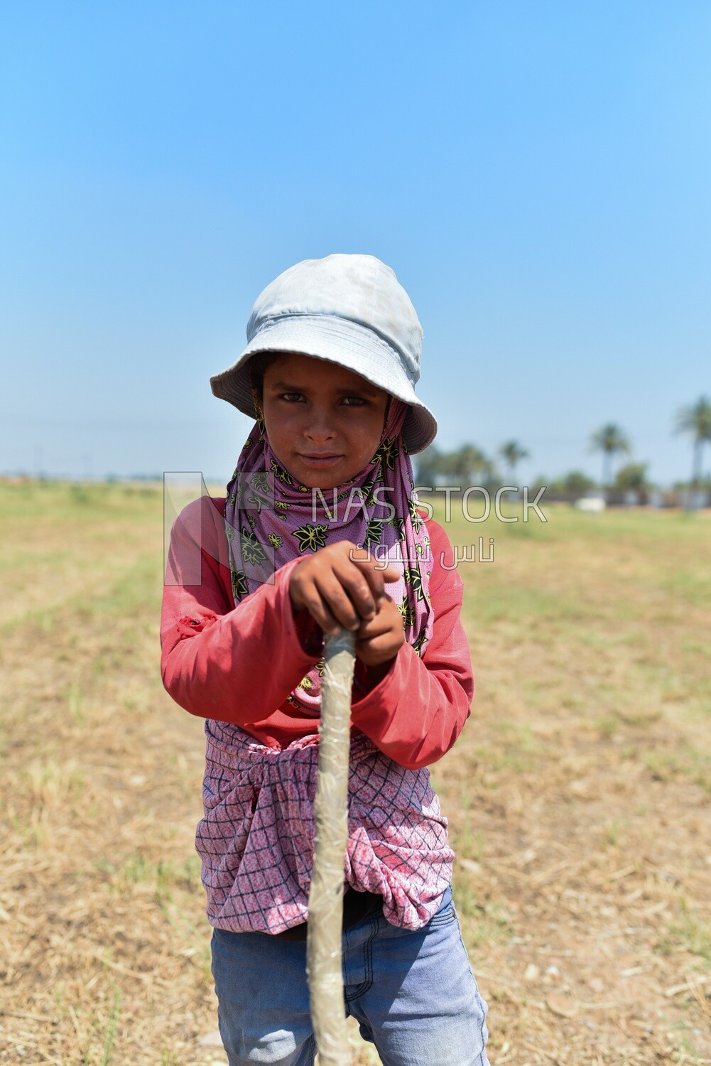
<path fill-rule="evenodd" d="M 264 371 L 262 410 L 272 450 L 303 485 L 342 485 L 373 457 L 388 398 L 337 362 L 285 353 Z"/>

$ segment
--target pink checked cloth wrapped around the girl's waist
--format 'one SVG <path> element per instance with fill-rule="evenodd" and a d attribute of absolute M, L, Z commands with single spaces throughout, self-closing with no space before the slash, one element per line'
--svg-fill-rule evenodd
<path fill-rule="evenodd" d="M 308 918 L 318 736 L 282 750 L 208 720 L 205 817 L 195 844 L 212 925 L 281 933 Z M 427 770 L 405 770 L 355 732 L 345 884 L 383 897 L 393 925 L 417 930 L 452 878 L 447 819 Z"/>

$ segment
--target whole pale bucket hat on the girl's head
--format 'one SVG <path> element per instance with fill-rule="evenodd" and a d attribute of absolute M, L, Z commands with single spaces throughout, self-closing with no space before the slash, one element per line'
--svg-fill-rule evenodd
<path fill-rule="evenodd" d="M 422 326 L 394 272 L 374 256 L 304 259 L 259 294 L 247 322 L 247 346 L 210 378 L 212 391 L 257 417 L 248 362 L 258 352 L 298 352 L 328 359 L 409 404 L 403 439 L 421 452 L 437 433 L 434 415 L 415 395 Z"/>

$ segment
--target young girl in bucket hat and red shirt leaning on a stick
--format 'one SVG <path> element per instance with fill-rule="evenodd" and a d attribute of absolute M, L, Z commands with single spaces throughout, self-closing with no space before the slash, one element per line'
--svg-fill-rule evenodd
<path fill-rule="evenodd" d="M 256 418 L 226 499 L 176 521 L 162 673 L 206 718 L 197 851 L 230 1066 L 311 1066 L 306 982 L 323 637 L 356 636 L 346 1012 L 385 1066 L 486 1066 L 486 1005 L 452 904 L 425 769 L 473 683 L 462 579 L 414 496 L 422 330 L 372 256 L 306 260 L 261 293 L 215 395 Z M 199 583 L 195 575 L 197 556 Z M 195 576 L 194 576 L 195 575 Z"/>

